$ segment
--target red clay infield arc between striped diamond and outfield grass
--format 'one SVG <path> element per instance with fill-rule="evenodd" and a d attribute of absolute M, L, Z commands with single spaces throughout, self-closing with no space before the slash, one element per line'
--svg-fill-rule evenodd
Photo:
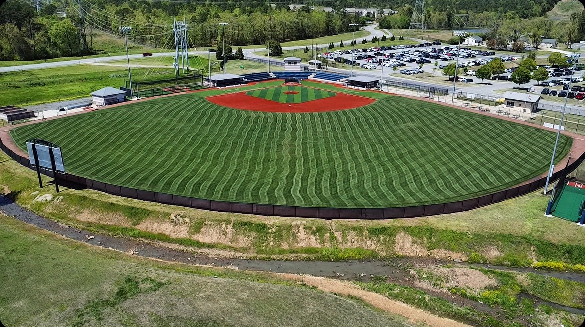
<path fill-rule="evenodd" d="M 266 99 L 246 95 L 246 92 L 232 93 L 226 95 L 209 96 L 207 99 L 218 106 L 233 109 L 253 110 L 256 112 L 279 112 L 279 113 L 313 113 L 333 112 L 336 110 L 353 109 L 371 105 L 376 99 L 364 98 L 363 96 L 337 93 L 326 99 L 313 100 L 304 103 L 280 103 Z"/>

